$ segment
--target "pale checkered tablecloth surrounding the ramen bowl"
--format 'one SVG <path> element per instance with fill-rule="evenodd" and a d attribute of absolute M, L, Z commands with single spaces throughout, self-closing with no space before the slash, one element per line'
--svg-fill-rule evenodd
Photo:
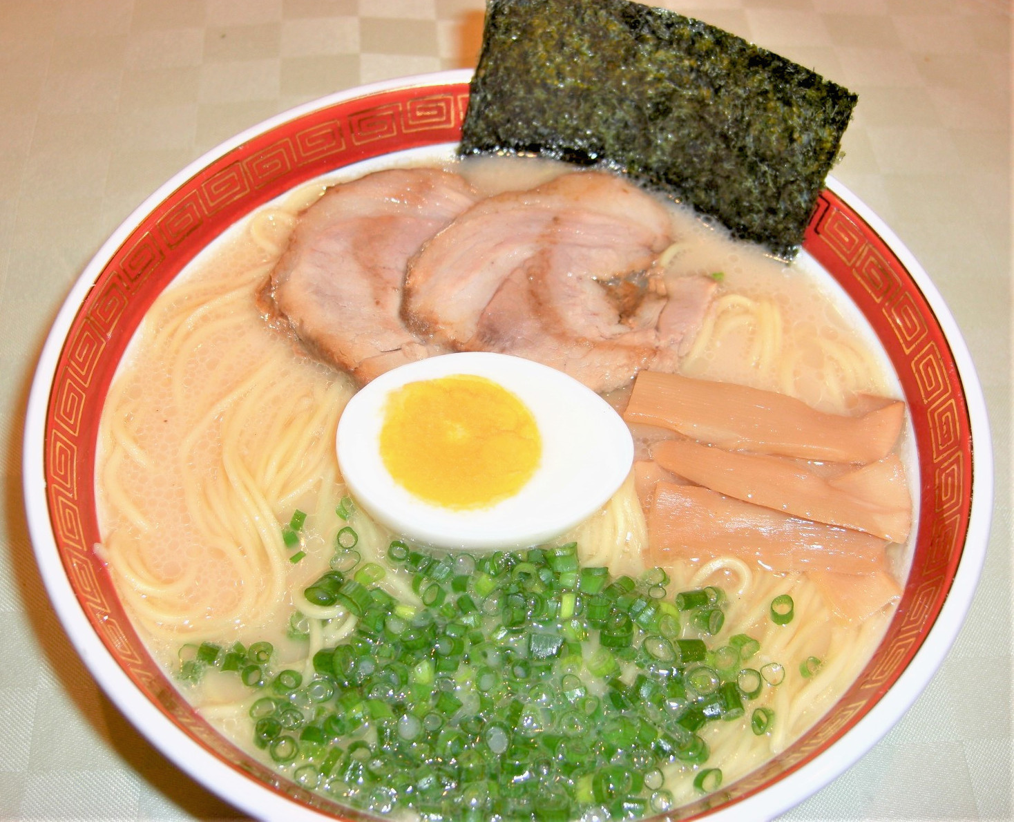
<path fill-rule="evenodd" d="M 986 570 L 912 711 L 788 820 L 1011 819 L 1011 24 L 1004 0 L 668 0 L 860 95 L 835 174 L 971 349 L 997 457 Z M 0 0 L 0 818 L 232 818 L 98 690 L 34 566 L 22 415 L 70 285 L 226 137 L 363 82 L 473 66 L 480 0 Z"/>

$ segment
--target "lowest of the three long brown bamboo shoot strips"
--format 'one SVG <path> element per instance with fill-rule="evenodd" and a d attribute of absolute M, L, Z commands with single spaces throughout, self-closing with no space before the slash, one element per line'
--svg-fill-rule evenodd
<path fill-rule="evenodd" d="M 872 574 L 883 539 L 744 503 L 698 485 L 659 482 L 648 512 L 649 562 L 735 556 L 776 572 Z"/>

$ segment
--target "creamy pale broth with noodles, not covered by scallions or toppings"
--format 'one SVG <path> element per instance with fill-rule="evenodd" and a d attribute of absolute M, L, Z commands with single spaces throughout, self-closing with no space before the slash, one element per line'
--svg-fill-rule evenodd
<path fill-rule="evenodd" d="M 560 170 L 504 158 L 451 167 L 484 193 L 525 189 Z M 330 568 L 336 534 L 346 525 L 334 514 L 344 496 L 334 442 L 354 386 L 266 323 L 257 302 L 295 215 L 322 190 L 308 185 L 263 209 L 159 297 L 103 409 L 99 550 L 136 626 L 173 676 L 182 646 L 269 641 L 280 660 L 276 668 L 302 671 L 305 681 L 314 650 L 349 630 L 333 608 L 305 604 L 302 591 Z M 673 219 L 685 239 L 671 249 L 670 276 L 720 279 L 717 307 L 685 360 L 687 376 L 793 393 L 839 413 L 853 409 L 862 393 L 896 393 L 882 352 L 871 348 L 868 332 L 850 327 L 826 283 L 733 243 L 683 212 L 674 210 Z M 788 351 L 788 359 L 774 357 L 775 349 Z M 622 403 L 626 392 L 614 393 Z M 300 546 L 306 555 L 291 563 L 281 534 L 297 508 L 308 514 Z M 363 561 L 383 563 L 391 535 L 358 512 L 349 524 Z M 640 572 L 645 523 L 633 483 L 575 535 L 585 564 Z M 892 558 L 895 569 L 903 565 Z M 785 681 L 766 686 L 755 703 L 775 712 L 769 732 L 750 733 L 749 709 L 739 722 L 714 722 L 701 731 L 711 748 L 708 767 L 721 767 L 725 783 L 783 750 L 834 704 L 889 618 L 881 612 L 861 624 L 844 623 L 804 575 L 768 574 L 735 559 L 675 563 L 667 571 L 670 595 L 720 586 L 728 605 L 718 636 L 747 632 L 760 642 L 754 667 L 777 662 L 786 668 Z M 383 587 L 412 598 L 410 582 L 392 572 Z M 769 606 L 783 593 L 795 601 L 795 619 L 776 626 Z M 297 609 L 305 618 L 293 621 Z M 308 638 L 294 638 L 293 624 Z M 809 656 L 823 661 L 820 675 L 793 676 Z M 199 684 L 180 682 L 180 689 L 237 745 L 271 762 L 250 744 L 248 711 L 259 694 L 235 675 L 209 671 Z M 280 769 L 294 775 L 288 766 Z M 696 770 L 676 764 L 666 772 L 675 804 L 700 796 Z M 305 783 L 329 794 L 325 780 Z"/>

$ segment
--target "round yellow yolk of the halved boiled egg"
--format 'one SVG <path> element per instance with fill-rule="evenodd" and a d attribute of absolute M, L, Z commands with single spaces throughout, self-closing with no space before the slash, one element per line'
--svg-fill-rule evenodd
<path fill-rule="evenodd" d="M 506 500 L 531 478 L 541 451 L 531 412 L 485 377 L 410 382 L 387 398 L 380 458 L 426 502 L 465 510 Z"/>

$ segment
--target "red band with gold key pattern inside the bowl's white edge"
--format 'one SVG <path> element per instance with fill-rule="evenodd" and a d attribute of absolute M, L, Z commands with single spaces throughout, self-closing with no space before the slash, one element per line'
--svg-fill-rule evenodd
<path fill-rule="evenodd" d="M 49 391 L 43 443 L 49 524 L 91 630 L 138 691 L 197 745 L 270 790 L 336 815 L 356 816 L 280 780 L 219 736 L 180 698 L 145 650 L 92 550 L 99 539 L 93 492 L 98 423 L 111 379 L 141 318 L 208 243 L 304 180 L 392 152 L 455 142 L 467 98 L 465 81 L 431 78 L 344 95 L 236 141 L 128 226 L 122 244 L 85 272 L 94 285 L 73 314 Z M 847 195 L 823 192 L 804 247 L 868 318 L 909 402 L 922 501 L 912 571 L 884 641 L 836 708 L 767 765 L 685 809 L 689 816 L 752 796 L 798 769 L 876 705 L 933 626 L 969 528 L 969 410 L 954 354 L 930 302 L 891 244 Z"/>

